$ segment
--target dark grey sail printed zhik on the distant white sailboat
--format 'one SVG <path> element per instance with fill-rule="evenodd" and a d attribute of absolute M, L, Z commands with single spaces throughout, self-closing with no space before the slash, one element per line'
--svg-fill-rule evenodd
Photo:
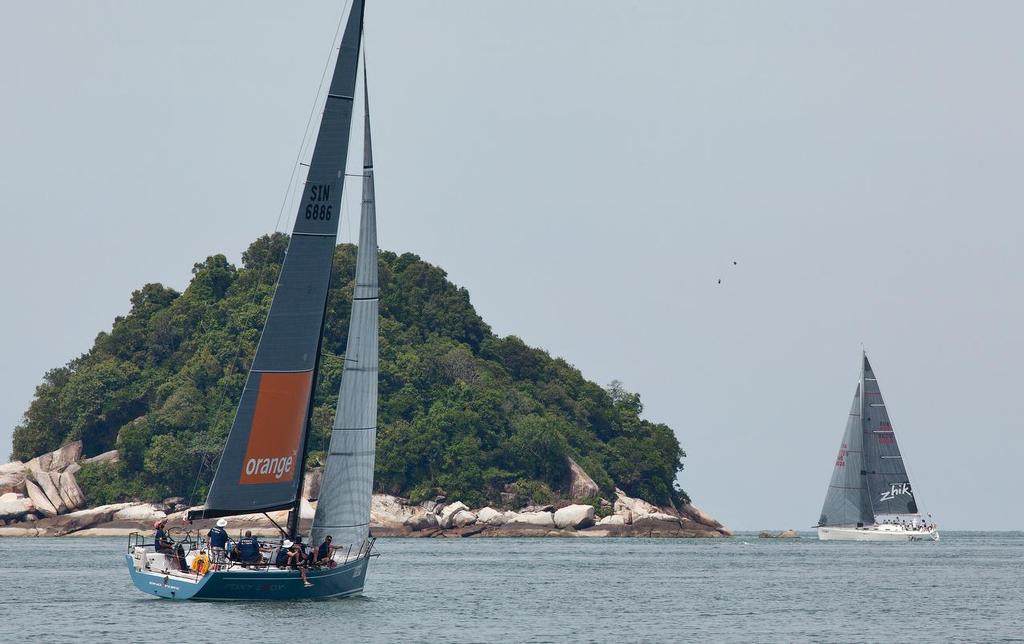
<path fill-rule="evenodd" d="M 910 477 L 867 355 L 864 355 L 863 383 L 864 470 L 874 514 L 918 514 Z"/>

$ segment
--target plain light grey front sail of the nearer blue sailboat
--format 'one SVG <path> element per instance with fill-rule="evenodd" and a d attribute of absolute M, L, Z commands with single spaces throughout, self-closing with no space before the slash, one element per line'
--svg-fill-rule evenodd
<path fill-rule="evenodd" d="M 322 491 L 310 534 L 310 544 L 313 545 L 321 544 L 329 534 L 337 546 L 361 544 L 370 533 L 370 503 L 377 443 L 378 283 L 374 164 L 366 85 L 364 99 L 367 116 L 362 212 L 359 220 L 359 249 L 355 261 L 355 289 L 348 323 L 345 367 L 338 392 L 338 410 L 331 431 Z"/>

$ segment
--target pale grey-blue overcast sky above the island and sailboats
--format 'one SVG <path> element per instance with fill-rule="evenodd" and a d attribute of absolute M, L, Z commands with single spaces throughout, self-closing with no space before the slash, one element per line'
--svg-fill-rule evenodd
<path fill-rule="evenodd" d="M 341 5 L 0 5 L 0 460 L 133 289 L 274 229 Z M 1024 528 L 1022 24 L 370 0 L 381 247 L 639 391 L 727 525 L 817 521 L 863 345 L 924 509 Z"/>

